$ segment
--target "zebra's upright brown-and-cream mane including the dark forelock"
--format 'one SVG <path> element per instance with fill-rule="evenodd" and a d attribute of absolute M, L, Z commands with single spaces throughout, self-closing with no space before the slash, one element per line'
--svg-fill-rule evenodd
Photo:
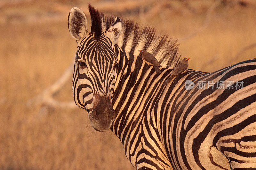
<path fill-rule="evenodd" d="M 99 12 L 89 4 L 91 15 L 91 34 L 99 40 L 102 32 L 114 23 L 115 16 Z M 130 19 L 121 18 L 122 31 L 117 45 L 134 56 L 140 55 L 138 50 L 147 50 L 153 54 L 163 67 L 174 68 L 180 60 L 176 40 L 167 34 L 156 33 L 156 29 L 150 26 L 140 26 Z"/>

